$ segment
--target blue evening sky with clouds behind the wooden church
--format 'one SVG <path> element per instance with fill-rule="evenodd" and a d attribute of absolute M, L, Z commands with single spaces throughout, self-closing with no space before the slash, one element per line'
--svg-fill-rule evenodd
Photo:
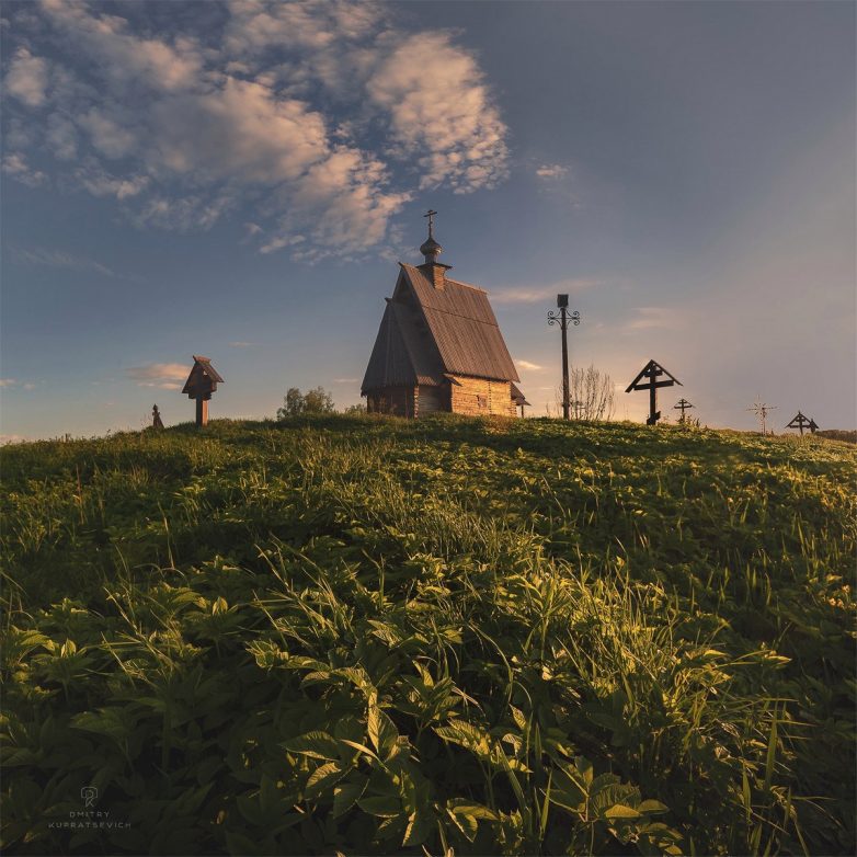
<path fill-rule="evenodd" d="M 521 388 L 649 359 L 702 424 L 854 428 L 855 4 L 4 0 L 2 439 L 359 382 L 422 215 Z"/>

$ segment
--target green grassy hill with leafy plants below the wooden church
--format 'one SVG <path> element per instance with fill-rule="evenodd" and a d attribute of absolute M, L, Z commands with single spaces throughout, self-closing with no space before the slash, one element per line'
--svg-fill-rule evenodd
<path fill-rule="evenodd" d="M 334 416 L 0 461 L 8 853 L 854 853 L 854 446 Z"/>

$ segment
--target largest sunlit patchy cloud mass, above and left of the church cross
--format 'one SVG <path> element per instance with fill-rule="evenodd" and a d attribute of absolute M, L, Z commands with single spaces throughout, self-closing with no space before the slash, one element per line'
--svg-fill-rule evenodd
<path fill-rule="evenodd" d="M 374 2 L 225 11 L 203 34 L 144 31 L 124 8 L 28 7 L 52 35 L 31 30 L 10 62 L 5 172 L 44 183 L 27 156 L 55 158 L 65 182 L 142 228 L 206 230 L 252 204 L 243 240 L 310 262 L 381 245 L 418 186 L 469 193 L 507 175 L 507 128 L 454 34 L 409 32 Z"/>

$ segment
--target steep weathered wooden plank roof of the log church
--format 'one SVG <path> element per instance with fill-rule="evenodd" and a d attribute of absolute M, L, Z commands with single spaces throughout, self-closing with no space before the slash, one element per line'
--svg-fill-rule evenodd
<path fill-rule="evenodd" d="M 444 384 L 445 375 L 518 380 L 484 289 L 399 263 L 362 393 L 384 387 Z"/>

